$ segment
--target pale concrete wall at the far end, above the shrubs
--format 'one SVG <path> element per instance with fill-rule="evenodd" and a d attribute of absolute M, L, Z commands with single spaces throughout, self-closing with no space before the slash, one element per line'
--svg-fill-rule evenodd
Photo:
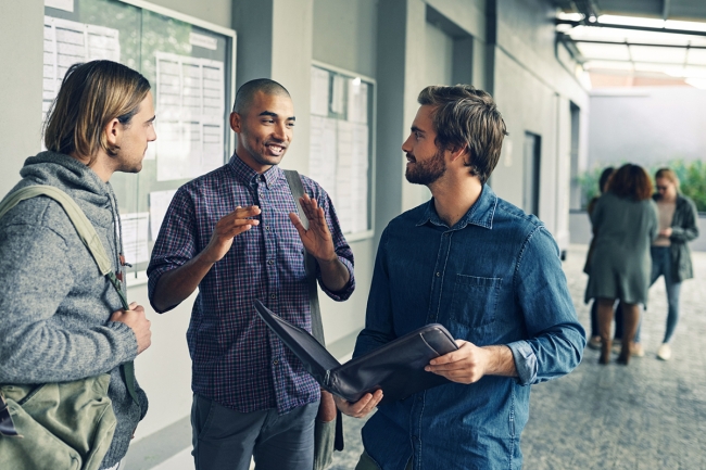
<path fill-rule="evenodd" d="M 706 90 L 644 87 L 591 93 L 589 167 L 706 157 Z"/>

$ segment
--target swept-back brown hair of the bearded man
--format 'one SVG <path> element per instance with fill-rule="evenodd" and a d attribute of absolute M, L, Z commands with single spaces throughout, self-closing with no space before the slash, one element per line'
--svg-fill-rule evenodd
<path fill-rule="evenodd" d="M 431 120 L 441 150 L 468 149 L 470 174 L 481 183 L 495 169 L 507 128 L 492 97 L 470 85 L 429 86 L 417 98 L 433 106 Z"/>

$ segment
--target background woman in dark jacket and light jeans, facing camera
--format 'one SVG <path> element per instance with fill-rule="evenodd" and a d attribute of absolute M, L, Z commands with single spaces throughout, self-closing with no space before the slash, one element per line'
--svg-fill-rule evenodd
<path fill-rule="evenodd" d="M 667 288 L 667 329 L 657 357 L 671 358 L 670 341 L 679 321 L 679 293 L 681 283 L 694 277 L 689 242 L 698 237 L 696 204 L 679 191 L 679 178 L 670 168 L 655 174 L 657 192 L 653 195 L 659 216 L 659 236 L 652 243 L 652 276 L 650 285 L 664 276 Z M 640 327 L 635 341 L 640 341 Z"/>

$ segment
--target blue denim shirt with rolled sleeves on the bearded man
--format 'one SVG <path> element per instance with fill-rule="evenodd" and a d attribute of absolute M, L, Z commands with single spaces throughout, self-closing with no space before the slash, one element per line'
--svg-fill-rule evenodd
<path fill-rule="evenodd" d="M 452 228 L 433 200 L 393 219 L 354 357 L 431 322 L 478 346 L 507 345 L 519 377 L 449 383 L 379 406 L 363 429 L 366 452 L 383 470 L 403 470 L 411 457 L 415 470 L 520 468 L 527 385 L 571 371 L 585 345 L 544 225 L 488 186 Z"/>

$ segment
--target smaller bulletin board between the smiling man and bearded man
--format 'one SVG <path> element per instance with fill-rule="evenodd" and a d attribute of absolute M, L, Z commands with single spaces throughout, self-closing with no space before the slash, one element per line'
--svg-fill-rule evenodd
<path fill-rule="evenodd" d="M 333 201 L 348 241 L 373 237 L 376 82 L 312 65 L 308 176 Z"/>

